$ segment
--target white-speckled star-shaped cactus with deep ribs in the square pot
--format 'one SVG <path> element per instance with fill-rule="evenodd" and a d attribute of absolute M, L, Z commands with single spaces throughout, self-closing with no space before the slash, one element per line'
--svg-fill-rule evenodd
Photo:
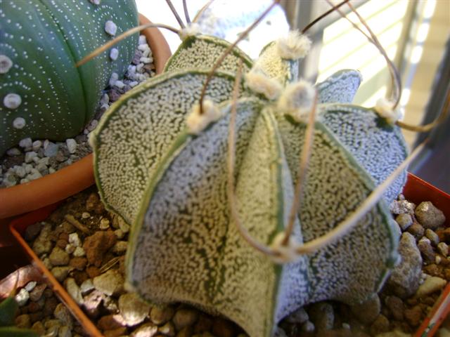
<path fill-rule="evenodd" d="M 188 41 L 165 74 L 115 103 L 91 137 L 101 197 L 132 223 L 128 283 L 147 300 L 197 305 L 257 337 L 271 336 L 277 322 L 307 303 L 357 303 L 378 291 L 397 261 L 397 232 L 384 200 L 338 241 L 284 264 L 243 239 L 227 193 L 236 68 L 241 63 L 246 72 L 234 126 L 237 213 L 245 230 L 266 246 L 288 223 L 307 128 L 291 110 L 311 105 L 304 95 L 309 88 L 296 82 L 295 60 L 280 58 L 276 44 L 255 65 L 235 49 L 206 89 L 222 117 L 193 134 L 186 117 L 198 103 L 207 70 L 188 67 L 212 67 L 224 41 Z M 198 51 L 205 44 L 209 53 Z M 251 84 L 255 78 L 262 83 Z M 280 92 L 268 99 L 272 81 Z M 298 244 L 347 219 L 406 156 L 394 126 L 371 109 L 349 104 L 360 81 L 358 72 L 345 70 L 316 86 L 319 116 L 293 230 Z"/>

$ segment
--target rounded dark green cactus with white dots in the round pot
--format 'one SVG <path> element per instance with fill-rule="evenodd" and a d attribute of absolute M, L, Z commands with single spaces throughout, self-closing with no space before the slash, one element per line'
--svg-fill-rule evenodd
<path fill-rule="evenodd" d="M 123 74 L 136 39 L 75 67 L 137 25 L 134 0 L 0 0 L 0 155 L 21 139 L 64 140 L 94 117 L 113 72 Z"/>

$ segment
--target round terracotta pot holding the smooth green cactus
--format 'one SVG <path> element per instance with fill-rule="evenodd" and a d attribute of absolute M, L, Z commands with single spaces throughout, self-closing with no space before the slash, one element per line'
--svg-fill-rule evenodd
<path fill-rule="evenodd" d="M 146 24 L 150 21 L 139 14 L 139 22 Z M 156 72 L 160 74 L 171 55 L 169 45 L 158 28 L 143 29 L 141 34 L 147 38 Z M 93 167 L 92 154 L 89 154 L 55 173 L 29 183 L 0 189 L 0 219 L 40 209 L 93 185 L 95 182 Z M 0 221 L 0 229 L 1 227 L 4 226 Z M 1 231 L 0 236 L 3 236 Z"/>

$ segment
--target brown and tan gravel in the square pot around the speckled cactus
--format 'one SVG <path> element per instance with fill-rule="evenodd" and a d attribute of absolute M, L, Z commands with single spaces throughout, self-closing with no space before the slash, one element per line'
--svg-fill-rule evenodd
<path fill-rule="evenodd" d="M 429 202 L 403 198 L 391 211 L 402 260 L 367 303 L 307 305 L 281 322 L 277 336 L 411 336 L 450 280 L 450 228 Z M 103 208 L 91 188 L 68 201 L 25 239 L 105 336 L 246 336 L 236 324 L 188 305 L 149 305 L 124 290 L 129 225 Z M 397 332 L 392 332 L 397 331 Z M 401 331 L 401 332 L 399 332 Z"/>

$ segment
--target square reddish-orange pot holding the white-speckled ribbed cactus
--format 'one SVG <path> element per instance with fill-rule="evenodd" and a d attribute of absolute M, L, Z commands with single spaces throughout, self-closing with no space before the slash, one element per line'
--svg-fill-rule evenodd
<path fill-rule="evenodd" d="M 406 186 L 404 187 L 404 195 L 406 199 L 413 201 L 416 204 L 419 204 L 420 201 L 432 201 L 439 209 L 441 209 L 446 216 L 447 227 L 450 227 L 450 195 L 446 194 L 436 187 L 426 183 L 420 178 L 414 176 L 409 173 L 408 181 Z M 59 203 L 58 203 L 59 204 Z M 101 337 L 100 331 L 92 324 L 89 318 L 84 315 L 84 312 L 79 309 L 78 305 L 75 303 L 72 298 L 68 295 L 67 291 L 63 289 L 62 286 L 56 281 L 56 279 L 51 275 L 51 272 L 46 269 L 44 264 L 39 260 L 36 254 L 32 251 L 30 246 L 28 246 L 25 239 L 23 239 L 23 234 L 25 233 L 25 229 L 28 225 L 32 225 L 38 221 L 44 220 L 47 216 L 54 211 L 58 204 L 53 204 L 44 207 L 43 209 L 39 209 L 37 211 L 27 213 L 25 216 L 21 216 L 20 218 L 16 218 L 10 224 L 11 232 L 13 233 L 15 239 L 18 244 L 22 246 L 23 251 L 27 254 L 27 256 L 32 260 L 32 263 L 36 265 L 45 275 L 49 282 L 52 284 L 53 289 L 58 289 L 58 296 L 63 298 L 64 303 L 68 305 L 68 308 L 72 312 L 77 312 L 75 317 L 79 320 L 79 322 L 84 326 L 86 331 L 89 329 L 89 333 L 91 336 Z M 450 313 L 450 283 L 447 284 L 446 288 L 442 291 L 441 296 L 437 299 L 435 305 L 432 310 L 430 310 L 429 314 L 423 320 L 423 324 L 420 325 L 418 331 L 414 334 L 414 337 L 431 337 L 437 331 L 439 325 Z M 87 325 L 85 325 L 87 324 Z"/>

